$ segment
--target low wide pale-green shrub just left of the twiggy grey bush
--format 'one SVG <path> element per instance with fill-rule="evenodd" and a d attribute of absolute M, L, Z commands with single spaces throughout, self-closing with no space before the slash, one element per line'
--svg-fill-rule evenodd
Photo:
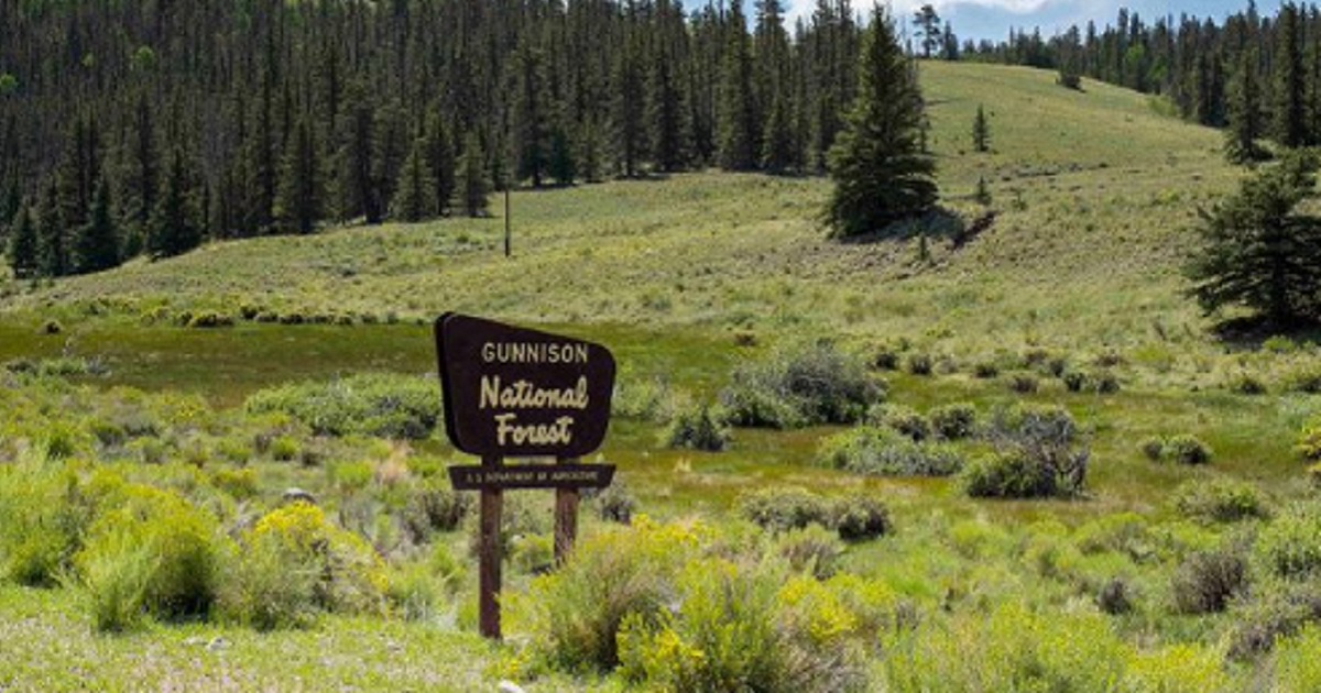
<path fill-rule="evenodd" d="M 963 455 L 943 444 L 919 444 L 893 429 L 856 426 L 822 441 L 818 463 L 871 477 L 948 477 Z"/>

